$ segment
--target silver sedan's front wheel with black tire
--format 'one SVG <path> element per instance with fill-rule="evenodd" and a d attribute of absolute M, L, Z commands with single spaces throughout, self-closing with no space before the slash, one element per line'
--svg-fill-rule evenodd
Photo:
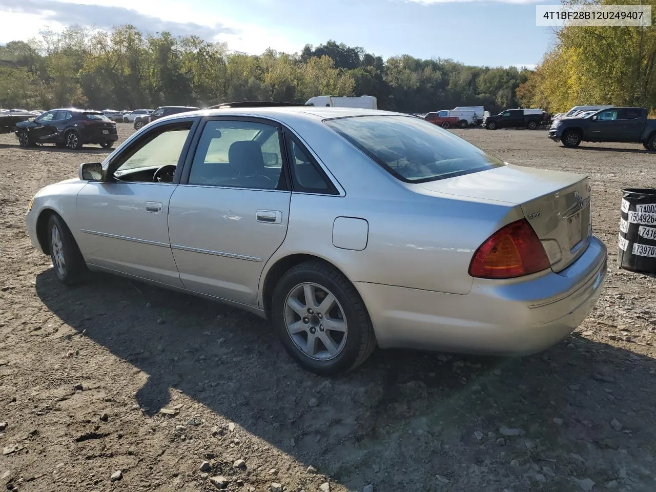
<path fill-rule="evenodd" d="M 68 226 L 56 214 L 48 220 L 48 243 L 52 268 L 59 281 L 64 285 L 79 282 L 87 272 L 87 265 Z"/>

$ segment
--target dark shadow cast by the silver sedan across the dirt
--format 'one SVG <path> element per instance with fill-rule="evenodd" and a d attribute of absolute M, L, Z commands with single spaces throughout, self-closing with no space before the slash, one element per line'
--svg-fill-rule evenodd
<path fill-rule="evenodd" d="M 156 414 L 177 390 L 350 490 L 441 491 L 447 480 L 501 491 L 508 476 L 528 490 L 538 472 L 549 490 L 573 490 L 572 474 L 612 480 L 618 450 L 633 447 L 653 469 L 656 360 L 588 338 L 527 358 L 377 350 L 327 379 L 300 369 L 266 321 L 240 310 L 104 274 L 65 287 L 49 269 L 35 289 L 68 336 L 146 373 L 135 398 L 147 416 L 165 417 Z M 610 428 L 614 418 L 630 433 Z M 647 480 L 628 473 L 634 487 Z"/>

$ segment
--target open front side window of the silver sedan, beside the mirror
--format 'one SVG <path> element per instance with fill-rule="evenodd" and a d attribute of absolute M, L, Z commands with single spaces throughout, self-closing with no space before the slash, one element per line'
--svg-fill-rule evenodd
<path fill-rule="evenodd" d="M 180 123 L 146 133 L 130 146 L 125 154 L 118 157 L 120 164 L 115 171 L 115 177 L 122 179 L 121 176 L 126 173 L 133 174 L 136 171 L 154 172 L 165 165 L 178 165 L 180 154 L 182 154 L 191 127 L 191 122 Z M 146 177 L 146 174 L 139 176 L 138 180 L 151 180 Z M 150 178 L 152 178 L 152 174 L 150 173 Z"/>

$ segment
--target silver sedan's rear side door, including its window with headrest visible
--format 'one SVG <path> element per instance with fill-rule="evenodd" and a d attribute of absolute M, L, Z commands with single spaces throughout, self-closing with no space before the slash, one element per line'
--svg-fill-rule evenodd
<path fill-rule="evenodd" d="M 257 306 L 260 274 L 287 234 L 291 193 L 280 131 L 209 119 L 171 197 L 169 236 L 187 289 Z"/>

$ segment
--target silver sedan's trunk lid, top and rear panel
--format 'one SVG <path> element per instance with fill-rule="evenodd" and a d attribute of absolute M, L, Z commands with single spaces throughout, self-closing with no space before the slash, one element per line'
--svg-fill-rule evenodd
<path fill-rule="evenodd" d="M 592 234 L 590 186 L 584 174 L 506 165 L 419 186 L 440 195 L 519 205 L 554 272 L 581 256 Z"/>

